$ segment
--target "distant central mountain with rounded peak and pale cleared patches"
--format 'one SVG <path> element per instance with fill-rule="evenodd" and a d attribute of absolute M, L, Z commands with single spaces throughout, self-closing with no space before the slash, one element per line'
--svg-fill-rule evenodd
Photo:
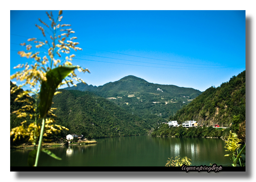
<path fill-rule="evenodd" d="M 81 85 L 84 84 L 77 84 L 77 88 Z M 193 88 L 153 84 L 131 75 L 95 87 L 91 91 L 147 120 L 154 127 L 158 123 L 166 122 L 171 114 L 202 93 Z"/>

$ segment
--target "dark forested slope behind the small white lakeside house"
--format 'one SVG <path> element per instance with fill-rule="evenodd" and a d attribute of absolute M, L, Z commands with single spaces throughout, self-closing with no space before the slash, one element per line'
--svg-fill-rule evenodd
<path fill-rule="evenodd" d="M 53 98 L 56 124 L 70 129 L 68 133 L 88 138 L 146 135 L 151 129 L 145 120 L 127 113 L 109 100 L 91 92 L 60 89 Z"/>

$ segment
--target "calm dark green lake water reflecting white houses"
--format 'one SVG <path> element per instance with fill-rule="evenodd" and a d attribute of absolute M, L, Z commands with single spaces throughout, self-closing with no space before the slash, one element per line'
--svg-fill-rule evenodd
<path fill-rule="evenodd" d="M 38 166 L 165 166 L 168 157 L 187 156 L 192 165 L 231 164 L 221 139 L 130 136 L 96 139 L 97 144 L 47 148 Z M 28 166 L 32 149 L 12 149 L 11 166 Z"/>

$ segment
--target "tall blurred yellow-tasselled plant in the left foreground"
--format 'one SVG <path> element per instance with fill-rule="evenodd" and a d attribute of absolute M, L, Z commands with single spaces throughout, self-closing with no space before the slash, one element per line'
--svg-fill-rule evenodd
<path fill-rule="evenodd" d="M 39 30 L 42 31 L 45 41 L 38 41 L 37 38 L 29 38 L 28 45 L 24 42 L 21 46 L 26 46 L 26 51 L 18 51 L 18 55 L 28 59 L 34 59 L 34 64 L 18 64 L 14 69 L 23 69 L 22 71 L 17 71 L 11 75 L 11 80 L 16 79 L 22 82 L 21 85 L 15 85 L 11 88 L 11 94 L 19 92 L 17 98 L 14 100 L 16 102 L 25 102 L 27 105 L 21 107 L 21 109 L 14 111 L 17 117 L 27 117 L 30 119 L 34 118 L 34 122 L 30 123 L 28 126 L 25 125 L 26 120 L 21 123 L 21 126 L 13 128 L 10 135 L 13 136 L 13 140 L 20 139 L 21 137 L 26 138 L 29 142 L 34 144 L 34 150 L 29 153 L 28 164 L 30 166 L 37 166 L 40 152 L 45 152 L 51 157 L 60 160 L 59 157 L 54 155 L 52 152 L 46 149 L 41 149 L 43 137 L 47 137 L 53 133 L 59 133 L 61 130 L 68 130 L 63 126 L 54 124 L 56 117 L 53 114 L 53 110 L 56 108 L 51 108 L 53 96 L 55 94 L 61 93 L 56 92 L 56 89 L 63 84 L 68 86 L 75 85 L 74 80 L 81 81 L 85 83 L 82 79 L 77 77 L 74 72 L 77 69 L 79 72 L 88 72 L 88 69 L 84 69 L 79 65 L 72 65 L 71 61 L 75 57 L 74 54 L 70 54 L 71 50 L 77 51 L 82 50 L 77 47 L 78 42 L 74 42 L 77 37 L 71 37 L 75 31 L 70 27 L 70 24 L 60 24 L 62 20 L 62 10 L 59 11 L 56 21 L 54 21 L 53 13 L 46 12 L 51 24 L 50 26 L 43 22 L 40 18 L 39 21 L 43 26 L 49 29 L 50 33 L 46 31 L 42 26 L 35 24 Z M 47 35 L 46 35 L 47 34 Z M 68 40 L 69 39 L 69 40 Z M 32 51 L 33 47 L 35 49 L 46 48 L 48 49 L 46 55 L 42 51 Z M 62 54 L 66 54 L 64 60 L 60 60 Z M 44 55 L 42 58 L 40 55 Z M 59 59 L 55 57 L 58 56 Z M 15 82 L 14 82 L 15 83 Z M 30 89 L 20 92 L 20 88 L 24 86 L 29 86 Z M 40 93 L 39 93 L 40 92 Z M 29 98 L 29 94 L 35 94 L 35 103 Z M 39 94 L 38 94 L 39 93 Z M 39 100 L 39 105 L 37 106 L 37 101 Z M 37 111 L 39 110 L 39 112 Z M 28 111 L 30 111 L 28 113 Z M 50 118 L 47 118 L 50 117 Z M 41 122 L 37 122 L 40 119 Z M 38 143 L 38 148 L 36 149 L 36 144 Z"/>

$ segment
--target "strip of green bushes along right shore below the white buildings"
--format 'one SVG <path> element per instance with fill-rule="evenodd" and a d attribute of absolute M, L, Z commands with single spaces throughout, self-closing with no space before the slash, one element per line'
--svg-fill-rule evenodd
<path fill-rule="evenodd" d="M 185 128 L 169 127 L 168 124 L 161 124 L 159 128 L 155 128 L 151 136 L 176 136 L 176 137 L 221 137 L 227 139 L 230 128 L 214 128 L 214 127 L 190 127 Z"/>

